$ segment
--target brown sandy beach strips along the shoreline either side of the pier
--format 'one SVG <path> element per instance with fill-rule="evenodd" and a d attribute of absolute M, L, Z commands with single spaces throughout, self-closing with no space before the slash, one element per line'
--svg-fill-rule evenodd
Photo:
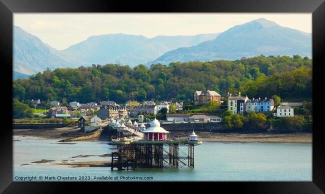
<path fill-rule="evenodd" d="M 21 139 L 66 139 L 87 133 L 78 131 L 78 127 L 62 127 L 55 129 L 14 129 L 13 140 Z M 173 139 L 187 139 L 190 131 L 171 131 Z M 212 142 L 265 142 L 265 143 L 311 143 L 312 133 L 215 133 L 196 132 L 202 141 Z M 97 139 L 88 139 L 97 140 Z"/>

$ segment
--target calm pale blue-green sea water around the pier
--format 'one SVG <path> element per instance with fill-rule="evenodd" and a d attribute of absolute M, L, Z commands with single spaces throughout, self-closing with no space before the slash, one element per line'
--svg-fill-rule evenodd
<path fill-rule="evenodd" d="M 137 168 L 129 171 L 110 167 L 71 167 L 50 163 L 30 163 L 41 159 L 99 161 L 110 157 L 112 145 L 103 141 L 75 141 L 57 144 L 56 140 L 13 141 L 13 181 L 26 176 L 94 176 L 153 177 L 153 180 L 216 180 L 216 181 L 311 181 L 311 143 L 221 143 L 203 142 L 194 147 L 194 168 Z M 72 160 L 74 159 L 74 160 Z M 29 163 L 29 165 L 21 165 Z M 49 181 L 49 180 L 45 180 Z M 62 180 L 67 181 L 67 180 Z M 75 180 L 74 180 L 75 181 Z M 82 181 L 82 180 L 81 180 Z M 87 180 L 89 181 L 89 180 Z M 98 180 L 90 180 L 98 181 Z M 101 181 L 101 180 L 99 180 Z M 114 180 L 107 180 L 114 181 Z M 145 180 L 147 181 L 147 180 Z"/>

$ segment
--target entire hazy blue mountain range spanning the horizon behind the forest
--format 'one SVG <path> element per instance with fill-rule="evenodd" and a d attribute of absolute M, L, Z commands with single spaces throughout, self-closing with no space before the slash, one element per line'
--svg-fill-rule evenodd
<path fill-rule="evenodd" d="M 33 74 L 47 67 L 118 63 L 134 66 L 175 61 L 238 59 L 255 55 L 311 57 L 311 33 L 283 27 L 264 18 L 235 25 L 222 33 L 148 38 L 131 34 L 93 35 L 57 50 L 13 27 L 13 70 Z"/>

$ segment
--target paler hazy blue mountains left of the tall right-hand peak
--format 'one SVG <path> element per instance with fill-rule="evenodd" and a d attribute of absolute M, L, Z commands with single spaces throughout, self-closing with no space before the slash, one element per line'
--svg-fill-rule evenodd
<path fill-rule="evenodd" d="M 18 26 L 13 27 L 13 33 L 13 69 L 25 74 L 43 71 L 47 67 L 55 69 L 106 63 L 130 66 L 145 64 L 166 51 L 197 45 L 218 35 L 158 35 L 153 38 L 122 33 L 93 35 L 66 49 L 57 50 Z"/>

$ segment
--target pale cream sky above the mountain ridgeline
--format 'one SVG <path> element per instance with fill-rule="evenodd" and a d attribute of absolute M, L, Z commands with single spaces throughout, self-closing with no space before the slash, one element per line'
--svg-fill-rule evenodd
<path fill-rule="evenodd" d="M 14 13 L 13 24 L 61 50 L 91 35 L 218 33 L 258 18 L 312 32 L 312 13 Z"/>

